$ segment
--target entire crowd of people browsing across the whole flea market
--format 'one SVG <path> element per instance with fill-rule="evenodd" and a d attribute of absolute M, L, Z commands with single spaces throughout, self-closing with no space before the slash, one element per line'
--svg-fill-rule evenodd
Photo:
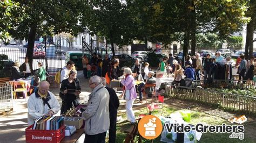
<path fill-rule="evenodd" d="M 244 55 L 240 56 L 239 79 L 252 80 L 254 77 L 254 58 L 246 61 Z M 223 58 L 221 53 L 211 56 L 207 54 L 205 58 L 201 58 L 199 54 L 195 56 L 186 56 L 185 67 L 181 66 L 180 60 L 169 54 L 169 58 L 163 58 L 159 63 L 160 71 L 167 71 L 173 74 L 173 84 L 183 84 L 185 78 L 188 81 L 198 81 L 204 75 L 204 80 L 211 82 L 213 79 L 224 78 L 231 80 L 232 64 L 231 58 L 227 56 Z M 238 60 L 239 61 L 239 60 Z M 25 66 L 24 66 L 25 65 Z M 29 74 L 30 67 L 27 67 L 26 61 L 22 66 L 26 74 Z M 42 67 L 42 63 L 38 63 Z M 129 124 L 136 123 L 136 117 L 133 112 L 133 104 L 139 96 L 139 102 L 143 103 L 143 92 L 147 97 L 152 97 L 153 88 L 146 87 L 146 84 L 155 84 L 156 78 L 154 71 L 149 69 L 150 63 L 145 63 L 144 73 L 142 76 L 142 63 L 136 59 L 132 68 L 124 68 L 123 76 L 120 76 L 119 59 L 109 59 L 106 55 L 102 60 L 101 56 L 94 54 L 89 61 L 86 56 L 83 57 L 84 77 L 89 78 L 89 87 L 91 94 L 89 101 L 82 112 L 82 118 L 85 120 L 85 140 L 84 142 L 104 142 L 106 131 L 109 130 L 109 142 L 116 140 L 116 121 L 117 109 L 119 107 L 119 98 L 110 85 L 111 80 L 117 80 L 121 77 L 120 83 L 123 84 L 123 98 L 126 101 L 126 117 L 130 121 Z M 36 90 L 28 101 L 28 123 L 33 124 L 33 120 L 44 115 L 54 115 L 59 110 L 62 115 L 72 107 L 79 104 L 79 94 L 82 91 L 80 81 L 77 78 L 77 71 L 74 69 L 75 63 L 69 61 L 60 72 L 60 92 L 59 97 L 62 99 L 62 106 L 57 98 L 49 91 L 50 84 L 44 80 L 39 82 L 38 90 Z M 19 69 L 19 68 L 18 68 Z M 17 70 L 18 70 L 17 69 Z M 43 70 L 43 69 L 42 69 Z M 42 73 L 39 69 L 38 73 Z M 223 74 L 223 75 L 222 75 Z M 120 78 L 119 78 L 120 79 Z M 136 85 L 136 81 L 142 81 Z"/>

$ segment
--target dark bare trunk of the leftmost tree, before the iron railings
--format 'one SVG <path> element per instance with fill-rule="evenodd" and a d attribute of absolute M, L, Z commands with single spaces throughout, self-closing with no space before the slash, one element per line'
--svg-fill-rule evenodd
<path fill-rule="evenodd" d="M 33 65 L 33 51 L 36 38 L 36 25 L 32 25 L 29 31 L 28 48 L 26 49 L 26 56 L 29 58 L 30 66 Z M 32 67 L 33 68 L 33 67 Z"/>

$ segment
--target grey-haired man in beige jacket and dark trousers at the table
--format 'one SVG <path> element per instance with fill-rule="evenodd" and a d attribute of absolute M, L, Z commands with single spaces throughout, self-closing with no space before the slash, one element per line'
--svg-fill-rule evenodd
<path fill-rule="evenodd" d="M 106 131 L 109 130 L 109 92 L 104 88 L 99 76 L 92 76 L 89 80 L 92 89 L 88 105 L 82 113 L 85 120 L 84 142 L 105 142 Z"/>

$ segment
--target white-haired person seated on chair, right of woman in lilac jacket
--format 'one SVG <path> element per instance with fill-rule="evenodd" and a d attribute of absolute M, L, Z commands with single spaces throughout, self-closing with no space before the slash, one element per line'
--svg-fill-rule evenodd
<path fill-rule="evenodd" d="M 151 97 L 152 96 L 152 92 L 153 92 L 153 88 L 146 88 L 144 89 L 144 85 L 145 84 L 153 84 L 156 83 L 156 78 L 153 77 L 154 76 L 154 71 L 149 71 L 149 74 L 147 75 L 147 80 L 146 83 L 141 83 L 138 87 L 139 90 L 139 103 L 142 103 L 142 92 L 143 90 L 145 90 L 147 96 Z"/>

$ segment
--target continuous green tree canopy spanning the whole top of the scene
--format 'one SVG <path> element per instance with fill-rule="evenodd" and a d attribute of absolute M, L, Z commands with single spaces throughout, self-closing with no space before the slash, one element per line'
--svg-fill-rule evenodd
<path fill-rule="evenodd" d="M 28 38 L 29 57 L 32 57 L 36 35 L 61 32 L 77 35 L 85 31 L 104 37 L 111 43 L 113 54 L 113 44 L 129 45 L 133 40 L 163 44 L 179 41 L 183 42 L 186 56 L 190 45 L 192 54 L 200 45 L 201 41 L 197 41 L 199 33 L 215 33 L 215 38 L 225 40 L 233 32 L 242 30 L 242 25 L 250 20 L 247 17 L 255 18 L 255 0 L 17 2 L 1 1 L 4 9 L 0 11 L 3 17 L 0 30 L 4 37 L 9 32 L 16 38 Z"/>

